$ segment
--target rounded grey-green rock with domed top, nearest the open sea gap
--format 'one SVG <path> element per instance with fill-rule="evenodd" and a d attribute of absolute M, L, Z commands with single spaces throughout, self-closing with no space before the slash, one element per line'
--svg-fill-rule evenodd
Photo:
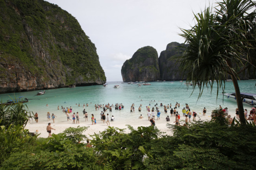
<path fill-rule="evenodd" d="M 151 46 L 137 50 L 121 69 L 123 81 L 156 81 L 160 79 L 158 53 Z"/>

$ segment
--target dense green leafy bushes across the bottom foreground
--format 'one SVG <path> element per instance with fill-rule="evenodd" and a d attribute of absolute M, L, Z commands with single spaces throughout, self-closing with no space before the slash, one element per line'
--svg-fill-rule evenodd
<path fill-rule="evenodd" d="M 21 124 L 6 124 L 0 126 L 0 170 L 254 169 L 256 126 L 234 122 L 228 125 L 215 110 L 210 122 L 169 125 L 173 136 L 152 126 L 128 125 L 129 133 L 109 126 L 91 136 L 93 147 L 81 142 L 88 127 L 44 139 L 32 137 Z"/>

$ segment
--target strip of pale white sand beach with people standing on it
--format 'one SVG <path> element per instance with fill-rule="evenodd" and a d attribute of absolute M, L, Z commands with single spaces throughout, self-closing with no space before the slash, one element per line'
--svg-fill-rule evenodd
<path fill-rule="evenodd" d="M 96 111 L 95 111 L 96 112 Z M 99 111 L 97 111 L 99 112 Z M 107 112 L 108 113 L 108 112 Z M 130 114 L 130 113 L 128 113 Z M 138 115 L 140 113 L 137 113 Z M 110 126 L 112 127 L 118 127 L 120 129 L 126 129 L 126 132 L 129 132 L 129 130 L 127 129 L 127 124 L 131 125 L 132 127 L 134 127 L 134 129 L 137 129 L 137 127 L 139 126 L 150 126 L 150 122 L 148 121 L 147 118 L 147 112 L 141 112 L 141 114 L 143 115 L 144 118 L 139 119 L 136 118 L 132 121 L 125 121 L 125 120 L 118 120 L 117 117 L 115 117 L 115 120 L 113 122 L 110 121 Z M 170 122 L 167 122 L 165 120 L 165 118 L 167 117 L 167 115 L 170 118 Z M 232 114 L 232 116 L 234 116 L 234 114 Z M 139 116 L 138 116 L 139 117 Z M 207 113 L 206 116 L 202 116 L 202 113 L 198 113 L 198 116 L 196 117 L 197 120 L 204 120 L 204 121 L 208 121 L 211 119 L 210 117 L 210 113 Z M 157 117 L 156 117 L 157 119 Z M 33 120 L 33 122 L 28 122 L 28 124 L 26 125 L 26 129 L 29 129 L 30 132 L 35 132 L 36 130 L 38 130 L 38 133 L 40 133 L 39 137 L 48 137 L 48 132 L 46 131 L 46 126 L 48 125 L 48 123 L 51 123 L 51 126 L 56 129 L 56 130 L 52 130 L 52 133 L 58 134 L 63 132 L 66 128 L 68 127 L 77 127 L 77 126 L 89 126 L 89 128 L 85 131 L 85 135 L 87 135 L 87 137 L 89 137 L 89 135 L 93 135 L 94 133 L 99 133 L 100 131 L 104 131 L 104 129 L 108 128 L 108 126 L 106 125 L 106 123 L 103 123 L 102 121 L 100 121 L 100 119 L 97 119 L 97 123 L 96 124 L 91 124 L 91 116 L 88 115 L 88 120 L 85 122 L 85 119 L 83 118 L 83 115 L 80 115 L 80 124 L 72 124 L 72 121 L 68 121 L 66 119 L 65 114 L 63 113 L 63 118 L 59 118 L 57 117 L 55 119 L 55 123 L 53 123 L 52 120 L 47 121 L 46 116 L 39 116 L 39 123 L 36 123 L 35 120 Z M 191 121 L 193 120 L 193 118 L 191 117 Z M 155 120 L 156 123 L 156 127 L 161 131 L 161 132 L 165 132 L 167 135 L 172 135 L 172 130 L 167 128 L 167 123 L 169 124 L 175 124 L 175 116 L 170 116 L 170 113 L 165 114 L 165 113 L 161 113 L 160 116 L 160 120 Z M 183 125 L 185 122 L 185 117 L 181 114 L 180 116 L 180 124 Z"/>

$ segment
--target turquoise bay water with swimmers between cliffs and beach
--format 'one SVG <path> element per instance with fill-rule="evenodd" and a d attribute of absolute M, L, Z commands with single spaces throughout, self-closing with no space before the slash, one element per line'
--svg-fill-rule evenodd
<path fill-rule="evenodd" d="M 219 105 L 228 107 L 230 111 L 236 109 L 236 103 L 227 100 L 221 92 L 219 93 L 218 99 L 216 99 L 217 87 L 213 88 L 211 92 L 210 89 L 204 89 L 204 92 L 201 98 L 198 99 L 198 89 L 195 89 L 191 95 L 192 88 L 184 85 L 184 82 L 174 81 L 170 83 L 169 81 L 165 82 L 150 82 L 151 85 L 142 85 L 138 87 L 137 85 L 130 85 L 127 83 L 121 82 L 107 82 L 108 86 L 103 87 L 102 85 L 94 85 L 87 87 L 76 87 L 76 88 L 61 88 L 61 89 L 50 89 L 46 90 L 45 94 L 42 96 L 34 96 L 39 91 L 30 91 L 30 92 L 17 92 L 17 93 L 8 93 L 0 94 L 0 100 L 3 102 L 11 98 L 17 98 L 19 96 L 24 96 L 28 99 L 40 99 L 40 100 L 30 100 L 26 103 L 30 111 L 33 113 L 39 113 L 39 118 L 43 115 L 46 118 L 46 113 L 54 113 L 61 120 L 66 120 L 66 115 L 61 111 L 61 106 L 70 107 L 72 106 L 73 111 L 79 112 L 80 116 L 82 115 L 83 104 L 88 103 L 89 107 L 85 107 L 85 110 L 90 114 L 95 114 L 96 118 L 100 118 L 99 111 L 95 111 L 95 104 L 113 104 L 122 103 L 124 109 L 121 111 L 115 111 L 113 108 L 113 115 L 116 119 L 119 120 L 133 120 L 137 118 L 138 107 L 142 104 L 142 114 L 146 115 L 146 106 L 151 105 L 154 107 L 156 103 L 160 106 L 160 103 L 165 105 L 170 103 L 174 107 L 175 103 L 180 103 L 180 108 L 178 111 L 181 113 L 181 109 L 185 107 L 185 103 L 189 104 L 189 107 L 192 110 L 195 110 L 197 113 L 201 113 L 202 109 L 206 107 L 208 110 L 207 114 L 210 115 L 210 111 L 216 108 L 219 108 Z M 250 92 L 256 93 L 256 88 L 254 88 L 256 81 L 255 80 L 245 80 L 239 81 L 239 87 L 241 92 Z M 114 85 L 120 85 L 120 88 L 114 89 Z M 226 92 L 234 92 L 234 86 L 232 82 L 226 82 Z M 154 102 L 155 100 L 155 102 Z M 151 102 L 152 101 L 152 102 Z M 135 103 L 135 113 L 130 114 L 130 106 L 132 103 Z M 46 107 L 46 104 L 49 106 Z M 77 104 L 77 105 L 76 105 Z M 81 106 L 78 107 L 78 104 Z M 58 110 L 58 105 L 60 110 Z M 245 108 L 250 109 L 250 106 L 244 105 Z M 169 109 L 170 110 L 170 109 Z M 169 113 L 168 110 L 168 113 Z M 101 111 L 101 110 L 100 110 Z M 161 113 L 163 113 L 163 107 L 160 107 Z M 126 115 L 129 113 L 129 116 Z"/>

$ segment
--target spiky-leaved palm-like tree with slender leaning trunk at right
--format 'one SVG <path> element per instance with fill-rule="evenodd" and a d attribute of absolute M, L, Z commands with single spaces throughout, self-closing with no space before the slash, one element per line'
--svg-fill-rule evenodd
<path fill-rule="evenodd" d="M 241 124 L 246 124 L 243 101 L 237 79 L 245 70 L 254 70 L 256 47 L 256 4 L 252 0 L 223 0 L 214 11 L 210 8 L 194 14 L 196 25 L 182 29 L 182 37 L 189 44 L 181 56 L 180 68 L 186 73 L 187 81 L 198 85 L 201 96 L 204 87 L 213 88 L 217 81 L 219 89 L 225 88 L 230 75 L 236 91 L 236 101 Z M 192 70 L 191 70 L 192 67 Z M 189 68 L 190 72 L 186 72 Z M 209 81 L 211 80 L 211 81 Z"/>

